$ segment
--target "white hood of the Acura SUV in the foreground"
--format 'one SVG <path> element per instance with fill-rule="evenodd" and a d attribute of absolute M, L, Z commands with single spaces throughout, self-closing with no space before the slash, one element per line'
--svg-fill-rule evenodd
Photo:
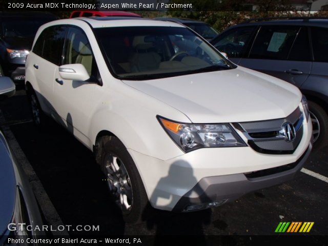
<path fill-rule="evenodd" d="M 298 107 L 302 96 L 283 80 L 242 67 L 123 82 L 181 111 L 194 123 L 283 118 Z"/>

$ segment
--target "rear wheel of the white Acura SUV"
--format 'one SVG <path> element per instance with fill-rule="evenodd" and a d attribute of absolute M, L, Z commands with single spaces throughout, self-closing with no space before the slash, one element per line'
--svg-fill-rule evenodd
<path fill-rule="evenodd" d="M 46 129 L 49 123 L 48 116 L 43 112 L 40 103 L 37 99 L 35 91 L 32 88 L 27 90 L 27 98 L 30 104 L 32 119 L 34 124 L 39 129 Z"/>

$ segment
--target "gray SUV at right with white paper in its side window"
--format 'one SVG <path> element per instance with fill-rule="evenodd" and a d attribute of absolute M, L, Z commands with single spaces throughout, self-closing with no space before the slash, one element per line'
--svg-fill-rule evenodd
<path fill-rule="evenodd" d="M 211 40 L 235 64 L 278 77 L 308 98 L 316 149 L 328 144 L 328 19 L 246 22 Z"/>

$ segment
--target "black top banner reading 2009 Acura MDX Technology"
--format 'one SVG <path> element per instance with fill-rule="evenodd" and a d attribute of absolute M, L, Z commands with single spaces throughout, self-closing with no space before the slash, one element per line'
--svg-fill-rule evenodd
<path fill-rule="evenodd" d="M 328 11 L 312 0 L 64 0 L 0 1 L 2 11 Z"/>

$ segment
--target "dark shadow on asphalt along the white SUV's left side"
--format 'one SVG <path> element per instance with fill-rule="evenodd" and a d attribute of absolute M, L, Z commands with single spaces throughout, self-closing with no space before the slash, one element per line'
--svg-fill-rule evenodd
<path fill-rule="evenodd" d="M 47 100 L 37 95 L 39 99 Z M 12 108 L 24 107 L 30 111 L 25 95 L 12 99 Z M 46 103 L 52 107 L 48 101 Z M 32 118 L 30 112 L 25 116 Z M 72 135 L 74 118 L 68 113 L 65 122 L 56 119 L 60 125 L 49 118 L 47 127 L 42 130 L 34 122 L 10 128 L 63 223 L 72 225 L 72 228 L 99 225 L 99 231 L 69 231 L 70 236 L 124 235 L 125 222 L 110 196 L 105 175 L 93 153 Z"/>

